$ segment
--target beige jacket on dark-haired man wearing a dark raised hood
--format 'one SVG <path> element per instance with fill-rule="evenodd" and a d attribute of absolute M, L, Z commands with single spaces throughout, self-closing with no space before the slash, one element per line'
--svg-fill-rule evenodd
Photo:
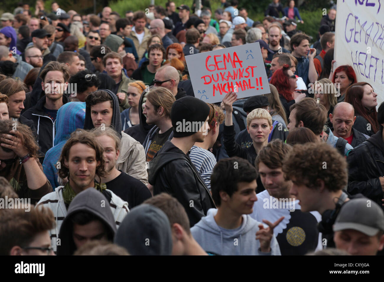
<path fill-rule="evenodd" d="M 116 168 L 148 184 L 147 163 L 144 147 L 128 134 L 121 132 L 120 155 Z"/>

